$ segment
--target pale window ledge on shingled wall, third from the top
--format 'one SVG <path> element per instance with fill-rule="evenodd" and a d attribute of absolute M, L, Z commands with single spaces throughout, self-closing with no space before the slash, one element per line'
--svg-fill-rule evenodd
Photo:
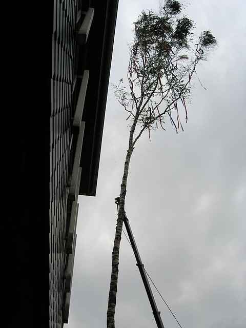
<path fill-rule="evenodd" d="M 80 163 L 80 157 L 81 157 L 81 151 L 83 145 L 84 131 L 85 131 L 85 122 L 81 122 L 80 130 L 77 138 L 74 161 L 73 161 L 73 171 L 72 171 L 71 183 L 69 188 L 69 200 L 75 200 L 75 198 L 78 196 L 78 188 L 80 183 L 79 169 L 81 170 L 81 168 L 79 167 L 79 163 Z"/>

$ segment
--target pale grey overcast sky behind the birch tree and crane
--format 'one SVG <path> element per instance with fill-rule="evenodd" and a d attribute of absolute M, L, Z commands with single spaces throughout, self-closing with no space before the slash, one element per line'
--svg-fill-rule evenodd
<path fill-rule="evenodd" d="M 197 72 L 185 132 L 142 136 L 126 197 L 145 268 L 183 328 L 246 326 L 246 151 L 244 0 L 190 0 L 196 31 L 218 48 Z M 110 80 L 126 77 L 132 23 L 158 0 L 120 0 Z M 68 328 L 106 327 L 112 245 L 127 150 L 126 112 L 109 90 L 96 197 L 79 196 Z M 154 328 L 135 258 L 122 235 L 116 327 Z M 166 328 L 177 323 L 153 290 Z"/>

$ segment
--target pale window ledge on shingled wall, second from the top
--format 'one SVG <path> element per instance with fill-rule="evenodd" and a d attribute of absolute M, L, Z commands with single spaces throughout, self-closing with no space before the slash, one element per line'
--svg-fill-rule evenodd
<path fill-rule="evenodd" d="M 75 114 L 73 118 L 73 126 L 76 128 L 79 128 L 81 125 L 81 119 L 83 115 L 83 110 L 84 110 L 84 105 L 85 105 L 85 99 L 86 99 L 86 90 L 87 90 L 87 85 L 88 85 L 88 80 L 89 80 L 89 70 L 85 70 L 79 90 L 79 95 L 78 95 L 78 101 L 77 101 L 77 106 L 75 109 Z"/>

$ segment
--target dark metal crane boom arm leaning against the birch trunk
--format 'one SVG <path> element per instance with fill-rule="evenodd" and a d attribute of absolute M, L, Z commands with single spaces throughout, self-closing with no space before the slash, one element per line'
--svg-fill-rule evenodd
<path fill-rule="evenodd" d="M 125 227 L 126 227 L 126 230 L 127 230 L 127 233 L 128 233 L 131 245 L 132 245 L 133 252 L 135 254 L 136 261 L 137 261 L 136 265 L 137 265 L 137 267 L 139 269 L 139 272 L 140 272 L 140 275 L 142 277 L 142 282 L 144 282 L 145 290 L 146 290 L 146 293 L 147 293 L 149 301 L 150 301 L 150 305 L 151 305 L 151 308 L 152 308 L 152 311 L 153 311 L 153 315 L 155 317 L 157 327 L 158 328 L 164 328 L 163 322 L 162 322 L 161 317 L 160 317 L 160 312 L 157 309 L 155 299 L 154 299 L 154 296 L 153 296 L 151 288 L 150 288 L 149 280 L 148 280 L 148 277 L 147 277 L 145 269 L 144 269 L 144 264 L 142 264 L 140 255 L 138 253 L 137 245 L 136 245 L 135 239 L 133 237 L 133 233 L 132 233 L 132 230 L 131 230 L 131 227 L 130 227 L 130 223 L 129 223 L 129 220 L 128 220 L 126 214 L 125 214 L 125 218 L 124 218 L 124 223 L 125 223 Z"/>

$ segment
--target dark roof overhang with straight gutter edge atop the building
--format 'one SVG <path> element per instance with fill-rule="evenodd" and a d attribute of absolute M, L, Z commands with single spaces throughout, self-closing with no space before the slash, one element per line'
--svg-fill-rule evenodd
<path fill-rule="evenodd" d="M 89 70 L 82 120 L 85 121 L 79 194 L 95 196 L 109 85 L 118 0 L 96 1 L 77 75 Z"/>

